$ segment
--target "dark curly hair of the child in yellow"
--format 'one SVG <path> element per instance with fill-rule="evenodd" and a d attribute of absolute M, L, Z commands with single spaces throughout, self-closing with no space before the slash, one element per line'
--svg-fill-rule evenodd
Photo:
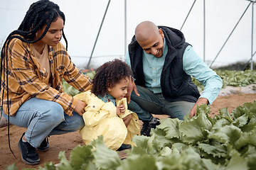
<path fill-rule="evenodd" d="M 92 79 L 92 93 L 96 96 L 104 96 L 107 88 L 114 87 L 120 80 L 132 77 L 132 70 L 129 65 L 122 60 L 115 59 L 102 64 Z"/>

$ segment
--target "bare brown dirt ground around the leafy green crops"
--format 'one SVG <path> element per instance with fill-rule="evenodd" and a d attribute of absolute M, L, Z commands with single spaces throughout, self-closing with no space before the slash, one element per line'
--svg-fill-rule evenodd
<path fill-rule="evenodd" d="M 242 106 L 243 103 L 253 102 L 256 99 L 256 94 L 230 94 L 228 96 L 218 96 L 211 106 L 212 115 L 218 114 L 220 108 L 228 108 L 229 113 L 238 106 Z M 166 115 L 155 115 L 157 118 L 166 118 Z M 141 123 L 142 125 L 142 123 Z M 71 150 L 77 145 L 83 145 L 79 132 L 72 132 L 65 135 L 55 135 L 49 138 L 50 149 L 47 152 L 38 152 L 41 159 L 41 164 L 36 166 L 30 166 L 24 164 L 21 161 L 21 154 L 18 151 L 18 140 L 22 133 L 25 132 L 25 128 L 18 128 L 15 125 L 10 126 L 10 143 L 11 149 L 13 150 L 17 159 L 11 154 L 8 137 L 7 127 L 0 128 L 0 169 L 5 169 L 6 166 L 16 164 L 18 169 L 34 168 L 38 169 L 39 166 L 43 167 L 46 162 L 53 162 L 58 164 L 58 154 L 60 151 L 65 151 L 65 155 L 69 158 Z M 122 153 L 121 153 L 122 154 Z M 122 155 L 119 154 L 120 157 Z"/>

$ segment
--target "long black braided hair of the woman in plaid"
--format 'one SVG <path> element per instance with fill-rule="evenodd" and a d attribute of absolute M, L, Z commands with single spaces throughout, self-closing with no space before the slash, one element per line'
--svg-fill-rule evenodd
<path fill-rule="evenodd" d="M 23 18 L 23 21 L 21 25 L 18 27 L 18 29 L 11 32 L 9 36 L 6 38 L 6 41 L 4 42 L 4 45 L 1 49 L 1 67 L 0 67 L 1 107 L 4 100 L 5 90 L 7 91 L 6 93 L 7 101 L 9 101 L 8 75 L 6 74 L 7 72 L 6 68 L 8 68 L 7 50 L 9 48 L 9 43 L 14 38 L 18 38 L 22 42 L 28 42 L 28 43 L 38 42 L 46 35 L 48 29 L 50 28 L 50 24 L 52 22 L 57 21 L 58 17 L 63 19 L 63 24 L 65 25 L 65 15 L 62 11 L 60 11 L 60 7 L 57 4 L 54 4 L 52 1 L 48 1 L 48 0 L 36 1 L 35 3 L 31 4 L 31 6 L 29 7 L 28 11 L 26 12 L 26 16 Z M 37 40 L 34 40 L 36 33 L 38 32 L 38 30 L 43 29 L 43 26 L 46 26 L 45 30 L 43 31 L 43 34 Z M 66 49 L 67 49 L 68 41 L 65 38 L 64 32 L 63 32 L 63 38 L 65 40 Z M 7 112 L 9 115 L 9 102 L 7 102 Z M 2 114 L 2 111 L 1 111 L 1 114 Z M 8 117 L 8 125 L 9 125 L 9 117 Z"/>

